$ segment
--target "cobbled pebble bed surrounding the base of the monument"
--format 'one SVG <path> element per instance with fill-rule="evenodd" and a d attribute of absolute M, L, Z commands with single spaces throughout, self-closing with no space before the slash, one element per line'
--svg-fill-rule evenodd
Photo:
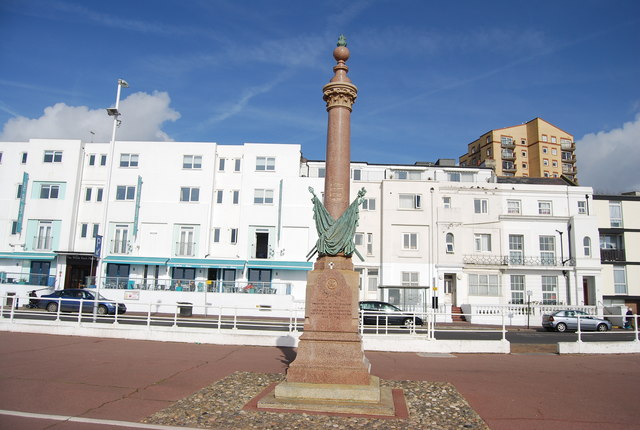
<path fill-rule="evenodd" d="M 488 429 L 456 388 L 444 382 L 383 381 L 404 389 L 408 419 L 377 419 L 244 411 L 242 408 L 282 374 L 235 372 L 142 422 L 205 429 Z"/>

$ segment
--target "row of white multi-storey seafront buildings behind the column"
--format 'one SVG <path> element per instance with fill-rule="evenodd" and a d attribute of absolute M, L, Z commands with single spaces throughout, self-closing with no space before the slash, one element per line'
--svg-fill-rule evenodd
<path fill-rule="evenodd" d="M 321 195 L 323 161 L 300 145 L 117 141 L 108 175 L 109 153 L 80 140 L 0 142 L 3 296 L 22 304 L 33 289 L 97 285 L 132 311 L 304 306 L 317 238 L 308 188 Z M 590 187 L 452 160 L 353 162 L 351 175 L 352 198 L 367 191 L 361 299 L 468 311 L 597 305 L 611 290 Z"/>

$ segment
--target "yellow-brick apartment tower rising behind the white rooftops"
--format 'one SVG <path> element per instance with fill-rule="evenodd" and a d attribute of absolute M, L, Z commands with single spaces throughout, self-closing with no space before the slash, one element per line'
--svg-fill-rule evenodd
<path fill-rule="evenodd" d="M 486 132 L 467 145 L 460 165 L 492 167 L 498 176 L 564 176 L 577 183 L 573 135 L 542 118 Z"/>

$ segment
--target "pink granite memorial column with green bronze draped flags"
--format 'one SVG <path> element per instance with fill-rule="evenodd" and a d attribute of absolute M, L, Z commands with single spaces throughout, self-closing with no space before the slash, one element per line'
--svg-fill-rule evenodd
<path fill-rule="evenodd" d="M 358 333 L 358 273 L 353 270 L 353 233 L 362 191 L 349 206 L 350 118 L 357 88 L 347 77 L 349 50 L 343 36 L 333 51 L 334 76 L 324 86 L 329 115 L 324 208 L 314 194 L 318 259 L 307 277 L 304 333 L 289 383 L 369 385 L 369 360 Z M 327 216 L 327 213 L 329 216 Z M 319 218 L 325 216 L 325 225 Z M 340 223 L 343 223 L 340 226 Z M 345 233 L 346 232 L 346 233 Z M 350 236 L 350 237 L 349 237 Z M 282 390 L 281 390 L 282 391 Z M 278 388 L 276 388 L 276 396 Z"/>

